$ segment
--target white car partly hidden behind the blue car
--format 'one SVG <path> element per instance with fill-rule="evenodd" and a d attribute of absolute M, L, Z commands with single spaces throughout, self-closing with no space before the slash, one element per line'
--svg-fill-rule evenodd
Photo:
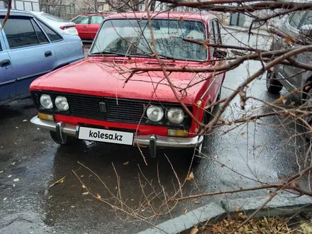
<path fill-rule="evenodd" d="M 33 13 L 37 18 L 39 18 L 43 22 L 47 23 L 52 28 L 55 28 L 55 30 L 57 30 L 60 33 L 78 35 L 78 31 L 75 28 L 76 24 L 71 21 L 58 18 L 57 16 L 52 16 L 43 11 L 40 12 L 30 11 L 30 12 Z"/>

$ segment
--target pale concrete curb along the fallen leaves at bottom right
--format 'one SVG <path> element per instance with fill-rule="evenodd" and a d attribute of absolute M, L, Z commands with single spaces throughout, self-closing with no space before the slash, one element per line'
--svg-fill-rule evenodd
<path fill-rule="evenodd" d="M 143 230 L 137 234 L 189 233 L 191 228 L 198 223 L 222 219 L 229 214 L 237 216 L 237 212 L 235 211 L 236 206 L 238 206 L 240 212 L 249 216 L 251 213 L 256 211 L 266 199 L 267 196 L 252 197 L 247 199 L 229 199 L 227 201 L 221 201 L 220 205 L 212 202 L 206 206 L 201 206 L 193 211 L 189 211 L 186 215 L 178 216 L 172 220 L 165 221 L 164 223 L 156 225 L 154 228 Z M 255 218 L 263 216 L 286 216 L 303 211 L 311 211 L 311 208 L 311 197 L 294 196 L 294 194 L 283 192 L 279 196 L 274 197 L 274 199 L 272 199 L 272 201 L 270 201 L 269 204 L 262 209 L 262 211 L 257 213 Z"/>

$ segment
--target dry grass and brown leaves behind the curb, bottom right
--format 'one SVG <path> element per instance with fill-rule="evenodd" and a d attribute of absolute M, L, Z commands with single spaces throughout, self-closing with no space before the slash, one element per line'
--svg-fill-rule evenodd
<path fill-rule="evenodd" d="M 235 234 L 311 234 L 311 223 L 298 223 L 289 225 L 289 218 L 254 218 L 246 225 L 243 225 Z M 233 231 L 243 221 L 224 219 L 215 224 L 208 224 L 200 230 L 201 234 L 225 234 Z"/>

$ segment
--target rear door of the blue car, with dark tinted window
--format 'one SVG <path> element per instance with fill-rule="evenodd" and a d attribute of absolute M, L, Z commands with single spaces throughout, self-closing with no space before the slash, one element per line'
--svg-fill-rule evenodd
<path fill-rule="evenodd" d="M 27 95 L 30 83 L 56 65 L 52 44 L 32 17 L 10 16 L 4 35 L 16 79 L 16 96 Z"/>

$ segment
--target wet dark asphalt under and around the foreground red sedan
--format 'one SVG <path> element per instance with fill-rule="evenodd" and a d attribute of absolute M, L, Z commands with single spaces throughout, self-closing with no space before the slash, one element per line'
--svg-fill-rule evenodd
<path fill-rule="evenodd" d="M 247 34 L 234 36 L 248 43 Z M 235 38 L 225 35 L 223 42 L 238 45 Z M 265 48 L 268 39 L 252 36 L 249 43 Z M 260 68 L 260 62 L 251 61 L 228 72 L 221 98 Z M 266 91 L 263 77 L 250 84 L 247 94 L 269 102 L 279 97 Z M 244 111 L 237 98 L 222 118 L 269 111 L 261 105 L 247 101 Z M 299 171 L 308 147 L 301 135 L 294 136 L 302 129 L 291 119 L 269 117 L 236 128 L 217 128 L 205 141 L 206 159 L 193 169 L 194 180 L 184 183 L 189 160 L 182 150 L 163 150 L 152 159 L 143 149 L 145 165 L 136 147 L 93 142 L 59 147 L 47 131 L 29 122 L 36 114 L 30 99 L 0 106 L 0 113 L 0 233 L 138 233 L 150 228 L 149 223 L 191 212 L 209 201 L 267 194 L 246 192 L 179 204 L 166 204 L 164 199 L 247 188 L 257 185 L 257 180 L 279 182 Z M 50 187 L 62 177 L 62 183 Z M 83 195 L 86 189 L 77 177 L 104 201 Z"/>

